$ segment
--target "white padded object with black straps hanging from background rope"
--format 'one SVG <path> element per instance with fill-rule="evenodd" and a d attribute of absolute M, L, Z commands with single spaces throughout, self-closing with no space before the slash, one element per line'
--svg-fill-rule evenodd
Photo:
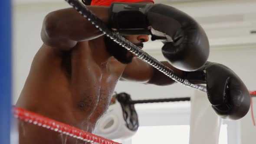
<path fill-rule="evenodd" d="M 107 112 L 98 121 L 95 134 L 112 140 L 132 137 L 139 124 L 134 105 L 127 103 L 131 100 L 130 95 L 120 93 L 113 98 Z"/>

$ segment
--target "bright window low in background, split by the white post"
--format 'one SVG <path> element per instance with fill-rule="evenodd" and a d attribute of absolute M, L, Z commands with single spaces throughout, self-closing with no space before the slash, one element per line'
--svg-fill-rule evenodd
<path fill-rule="evenodd" d="M 177 105 L 176 105 L 177 104 Z M 135 105 L 140 127 L 121 144 L 189 144 L 190 103 Z M 241 144 L 239 121 L 223 121 L 219 144 Z"/>

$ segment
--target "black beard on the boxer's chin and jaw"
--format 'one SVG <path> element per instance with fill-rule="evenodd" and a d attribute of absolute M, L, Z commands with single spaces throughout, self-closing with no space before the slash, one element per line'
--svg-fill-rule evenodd
<path fill-rule="evenodd" d="M 133 56 L 125 48 L 112 41 L 112 39 L 104 36 L 105 46 L 111 56 L 114 56 L 119 62 L 123 64 L 131 63 Z M 143 47 L 143 43 L 135 44 L 136 46 Z"/>

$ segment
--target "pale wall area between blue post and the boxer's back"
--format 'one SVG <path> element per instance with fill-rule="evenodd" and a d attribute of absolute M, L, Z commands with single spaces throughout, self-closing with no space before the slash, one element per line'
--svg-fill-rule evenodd
<path fill-rule="evenodd" d="M 40 31 L 44 16 L 67 3 L 31 3 L 13 6 L 13 102 L 23 88 L 30 65 L 42 46 Z"/>

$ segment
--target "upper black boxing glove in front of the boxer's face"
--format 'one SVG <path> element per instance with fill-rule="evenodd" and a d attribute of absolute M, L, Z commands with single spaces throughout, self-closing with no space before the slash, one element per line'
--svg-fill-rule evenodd
<path fill-rule="evenodd" d="M 186 13 L 163 4 L 112 3 L 109 26 L 121 35 L 151 34 L 161 39 L 162 53 L 177 69 L 195 71 L 208 59 L 203 28 Z"/>

